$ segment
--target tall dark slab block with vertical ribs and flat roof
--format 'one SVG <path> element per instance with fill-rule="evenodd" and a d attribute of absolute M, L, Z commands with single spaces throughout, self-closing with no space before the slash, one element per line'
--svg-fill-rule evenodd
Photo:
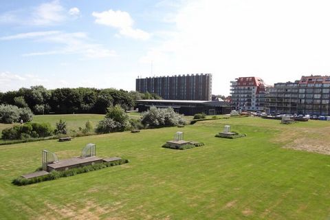
<path fill-rule="evenodd" d="M 166 100 L 211 100 L 212 74 L 137 78 L 135 90 Z"/>

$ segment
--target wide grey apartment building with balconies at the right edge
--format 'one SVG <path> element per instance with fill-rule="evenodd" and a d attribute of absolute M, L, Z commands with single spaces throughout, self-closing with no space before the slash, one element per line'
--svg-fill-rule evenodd
<path fill-rule="evenodd" d="M 330 76 L 302 76 L 294 83 L 276 83 L 265 105 L 269 113 L 330 115 Z"/>

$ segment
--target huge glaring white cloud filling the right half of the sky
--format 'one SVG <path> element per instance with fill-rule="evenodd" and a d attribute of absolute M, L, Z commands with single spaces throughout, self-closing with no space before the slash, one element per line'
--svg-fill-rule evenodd
<path fill-rule="evenodd" d="M 229 94 L 239 76 L 273 84 L 329 74 L 329 8 L 325 0 L 185 1 L 173 32 L 155 34 L 160 43 L 140 61 L 159 73 L 212 73 L 214 94 Z"/>

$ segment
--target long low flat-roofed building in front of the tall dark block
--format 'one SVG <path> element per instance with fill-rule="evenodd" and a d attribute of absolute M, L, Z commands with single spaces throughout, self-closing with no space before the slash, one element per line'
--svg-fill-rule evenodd
<path fill-rule="evenodd" d="M 206 115 L 221 115 L 230 113 L 230 104 L 223 101 L 207 100 L 137 100 L 139 112 L 148 111 L 150 107 L 173 108 L 177 113 L 184 115 L 195 115 L 205 113 Z"/>

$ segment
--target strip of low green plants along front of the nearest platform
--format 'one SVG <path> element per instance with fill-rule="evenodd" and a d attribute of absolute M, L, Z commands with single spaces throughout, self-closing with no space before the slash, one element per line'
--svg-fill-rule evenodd
<path fill-rule="evenodd" d="M 12 180 L 12 184 L 17 185 L 17 186 L 36 184 L 41 181 L 50 181 L 50 180 L 58 179 L 61 177 L 71 177 L 71 176 L 77 175 L 79 173 L 87 173 L 89 171 L 100 170 L 102 168 L 106 168 L 109 166 L 117 166 L 120 164 L 126 164 L 128 162 L 129 162 L 128 159 L 120 159 L 120 160 L 114 161 L 114 162 L 103 162 L 103 163 L 98 163 L 98 164 L 94 164 L 94 165 L 80 166 L 77 168 L 72 168 L 72 169 L 63 170 L 63 171 L 53 170 L 52 172 L 50 172 L 50 174 L 44 175 L 42 177 L 34 177 L 31 179 L 25 179 L 24 177 L 17 177 L 16 179 Z M 39 170 L 39 169 L 37 169 L 37 170 Z"/>

